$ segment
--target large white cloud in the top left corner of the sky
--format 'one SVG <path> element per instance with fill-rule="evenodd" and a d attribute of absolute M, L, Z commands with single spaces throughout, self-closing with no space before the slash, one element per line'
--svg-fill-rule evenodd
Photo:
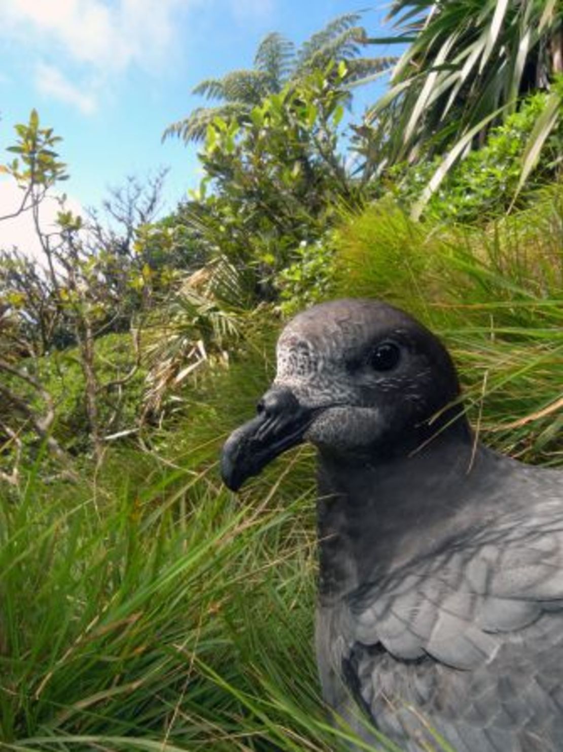
<path fill-rule="evenodd" d="M 92 114 L 109 77 L 130 67 L 159 70 L 170 61 L 180 11 L 199 2 L 0 0 L 0 38 L 35 58 L 40 92 Z M 55 55 L 57 67 L 44 62 Z M 72 80 L 63 69 L 72 70 Z"/>

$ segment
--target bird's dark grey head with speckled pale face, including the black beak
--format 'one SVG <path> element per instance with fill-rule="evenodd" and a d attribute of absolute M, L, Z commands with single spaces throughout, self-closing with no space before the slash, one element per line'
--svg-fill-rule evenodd
<path fill-rule="evenodd" d="M 447 408 L 458 398 L 445 347 L 404 311 L 369 299 L 313 306 L 283 329 L 274 383 L 223 447 L 223 480 L 237 490 L 302 441 L 354 462 L 408 456 L 456 423 Z"/>

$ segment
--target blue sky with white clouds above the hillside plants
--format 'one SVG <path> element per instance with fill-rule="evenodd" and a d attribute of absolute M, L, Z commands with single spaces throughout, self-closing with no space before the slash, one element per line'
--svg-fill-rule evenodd
<path fill-rule="evenodd" d="M 347 0 L 0 0 L 0 162 L 14 123 L 38 109 L 64 139 L 62 159 L 77 204 L 99 205 L 127 174 L 169 167 L 168 209 L 195 187 L 195 147 L 161 143 L 162 131 L 202 104 L 191 89 L 207 77 L 251 67 L 271 31 L 299 43 L 339 14 Z M 386 3 L 365 13 L 381 33 Z M 395 50 L 381 48 L 380 54 Z M 369 95 L 373 101 L 373 92 Z M 357 111 L 362 111 L 358 97 Z M 7 188 L 7 186 L 5 186 Z M 0 214 L 6 191 L 0 191 Z M 6 208 L 4 206 L 4 208 Z M 2 228 L 0 228 L 0 233 Z"/>

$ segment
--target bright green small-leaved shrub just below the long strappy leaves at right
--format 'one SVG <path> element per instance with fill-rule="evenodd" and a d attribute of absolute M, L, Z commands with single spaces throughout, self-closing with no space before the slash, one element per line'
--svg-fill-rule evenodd
<path fill-rule="evenodd" d="M 461 223 L 485 223 L 513 206 L 522 174 L 522 158 L 538 117 L 546 107 L 547 95 L 538 92 L 522 103 L 519 111 L 493 128 L 486 143 L 459 162 L 444 178 L 425 206 L 425 217 Z M 561 153 L 561 128 L 552 133 L 543 149 L 540 165 L 528 180 L 528 191 L 553 177 Z M 410 208 L 419 202 L 432 174 L 441 162 L 439 156 L 412 167 L 397 165 L 389 171 L 398 177 L 397 194 Z M 402 178 L 400 177 L 402 173 Z M 521 198 L 523 202 L 523 199 Z"/>

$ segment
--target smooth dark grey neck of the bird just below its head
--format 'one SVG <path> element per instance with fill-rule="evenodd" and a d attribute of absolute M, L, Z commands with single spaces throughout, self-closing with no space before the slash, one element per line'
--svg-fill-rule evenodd
<path fill-rule="evenodd" d="M 489 461 L 469 429 L 444 431 L 407 456 L 352 465 L 319 453 L 321 599 L 341 597 L 482 524 L 487 515 L 471 489 Z"/>

